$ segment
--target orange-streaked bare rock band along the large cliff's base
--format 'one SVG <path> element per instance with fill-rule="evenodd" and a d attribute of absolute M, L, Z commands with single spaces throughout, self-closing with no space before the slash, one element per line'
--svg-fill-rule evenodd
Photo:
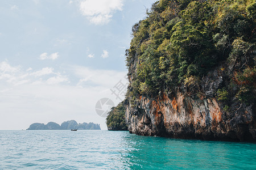
<path fill-rule="evenodd" d="M 141 96 L 136 108 L 126 105 L 130 133 L 171 138 L 255 141 L 255 115 L 251 106 L 234 103 L 224 112 L 214 98 L 193 99 L 178 92 L 156 99 Z"/>

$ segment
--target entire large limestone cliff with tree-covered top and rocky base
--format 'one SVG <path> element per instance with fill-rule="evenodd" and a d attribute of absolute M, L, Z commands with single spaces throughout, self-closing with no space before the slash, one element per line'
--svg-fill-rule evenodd
<path fill-rule="evenodd" d="M 255 1 L 160 0 L 133 26 L 130 133 L 256 141 Z"/>

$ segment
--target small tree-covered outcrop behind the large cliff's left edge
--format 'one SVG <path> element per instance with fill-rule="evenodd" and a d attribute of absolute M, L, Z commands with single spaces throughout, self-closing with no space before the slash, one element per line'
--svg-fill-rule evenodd
<path fill-rule="evenodd" d="M 106 118 L 108 130 L 127 130 L 125 124 L 125 106 L 123 102 L 113 107 Z"/>

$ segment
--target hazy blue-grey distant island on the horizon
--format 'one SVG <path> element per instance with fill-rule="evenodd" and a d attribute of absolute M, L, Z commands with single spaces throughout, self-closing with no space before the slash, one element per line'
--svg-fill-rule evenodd
<path fill-rule="evenodd" d="M 90 122 L 77 124 L 75 120 L 65 121 L 61 125 L 55 122 L 48 122 L 48 124 L 34 123 L 30 125 L 30 128 L 27 130 L 71 130 L 71 129 L 80 129 L 80 130 L 101 130 L 100 124 L 94 124 Z"/>

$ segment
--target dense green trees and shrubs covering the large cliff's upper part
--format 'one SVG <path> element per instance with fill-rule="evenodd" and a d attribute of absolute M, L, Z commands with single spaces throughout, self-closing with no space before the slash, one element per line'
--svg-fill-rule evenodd
<path fill-rule="evenodd" d="M 147 18 L 133 26 L 126 50 L 131 104 L 139 95 L 170 94 L 177 87 L 204 97 L 200 81 L 217 66 L 229 80 L 216 98 L 225 102 L 231 95 L 254 103 L 255 11 L 255 0 L 154 3 Z"/>

